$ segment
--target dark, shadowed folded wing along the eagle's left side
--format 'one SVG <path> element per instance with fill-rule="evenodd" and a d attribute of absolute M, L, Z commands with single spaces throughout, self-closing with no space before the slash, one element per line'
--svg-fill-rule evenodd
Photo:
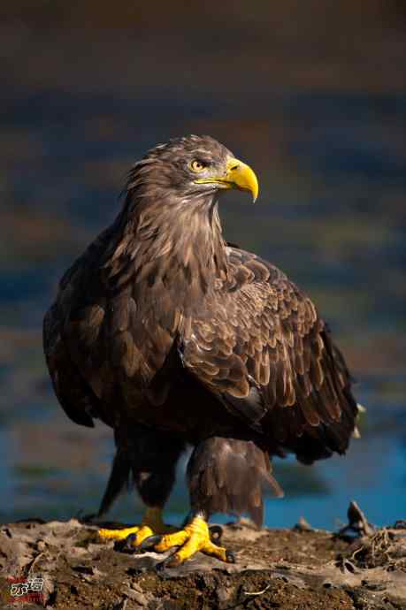
<path fill-rule="evenodd" d="M 57 299 L 43 320 L 45 359 L 57 399 L 73 422 L 93 426 L 100 416 L 97 397 L 97 342 L 103 326 L 104 309 L 95 294 L 95 268 L 106 242 L 102 233 L 77 259 L 61 279 Z M 98 291 L 100 292 L 100 291 Z"/>

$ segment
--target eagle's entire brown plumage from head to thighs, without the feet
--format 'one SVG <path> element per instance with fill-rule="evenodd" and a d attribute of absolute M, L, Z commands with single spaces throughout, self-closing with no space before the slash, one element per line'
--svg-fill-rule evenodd
<path fill-rule="evenodd" d="M 262 487 L 280 492 L 268 456 L 311 463 L 349 444 L 356 401 L 326 324 L 281 271 L 223 239 L 218 194 L 249 190 L 242 173 L 230 179 L 238 163 L 208 136 L 149 151 L 45 316 L 62 407 L 115 431 L 102 512 L 130 474 L 147 505 L 163 506 L 191 444 L 192 507 L 259 524 Z"/>

